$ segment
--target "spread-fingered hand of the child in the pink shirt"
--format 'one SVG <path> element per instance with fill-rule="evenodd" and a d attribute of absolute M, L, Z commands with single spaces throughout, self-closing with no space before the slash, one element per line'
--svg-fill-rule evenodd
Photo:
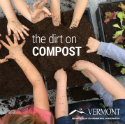
<path fill-rule="evenodd" d="M 9 55 L 5 57 L 6 59 L 16 59 L 16 57 L 21 56 L 23 54 L 22 47 L 24 46 L 25 41 L 23 41 L 19 45 L 16 36 L 14 35 L 13 37 L 14 43 L 10 40 L 8 36 L 6 36 L 9 45 L 1 40 L 1 43 L 9 50 Z"/>

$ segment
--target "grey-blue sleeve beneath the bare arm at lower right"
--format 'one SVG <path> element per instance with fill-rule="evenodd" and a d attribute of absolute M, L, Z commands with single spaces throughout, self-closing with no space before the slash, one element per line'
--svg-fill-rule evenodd
<path fill-rule="evenodd" d="M 105 106 L 109 108 L 113 107 L 112 95 L 109 94 L 98 81 L 96 81 L 91 88 L 96 92 L 97 95 L 100 96 L 100 98 L 103 99 Z"/>

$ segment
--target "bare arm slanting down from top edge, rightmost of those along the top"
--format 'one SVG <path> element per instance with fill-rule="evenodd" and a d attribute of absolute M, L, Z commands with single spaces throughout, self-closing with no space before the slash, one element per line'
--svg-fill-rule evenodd
<path fill-rule="evenodd" d="M 72 23 L 70 25 L 70 29 L 73 27 L 78 27 L 82 15 L 86 9 L 87 3 L 88 0 L 76 0 L 75 10 L 73 14 Z"/>

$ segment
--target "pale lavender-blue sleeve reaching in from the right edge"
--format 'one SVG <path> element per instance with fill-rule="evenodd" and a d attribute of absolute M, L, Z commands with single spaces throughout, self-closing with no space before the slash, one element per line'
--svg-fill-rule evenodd
<path fill-rule="evenodd" d="M 97 54 L 111 58 L 125 65 L 125 50 L 112 43 L 101 42 Z"/>

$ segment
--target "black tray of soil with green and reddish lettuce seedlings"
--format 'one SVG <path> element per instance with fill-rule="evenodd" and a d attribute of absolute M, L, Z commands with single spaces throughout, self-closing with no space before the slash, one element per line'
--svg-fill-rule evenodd
<path fill-rule="evenodd" d="M 125 49 L 125 2 L 100 3 L 96 11 L 100 40 Z M 106 71 L 113 76 L 124 75 L 125 66 L 105 58 Z"/>

